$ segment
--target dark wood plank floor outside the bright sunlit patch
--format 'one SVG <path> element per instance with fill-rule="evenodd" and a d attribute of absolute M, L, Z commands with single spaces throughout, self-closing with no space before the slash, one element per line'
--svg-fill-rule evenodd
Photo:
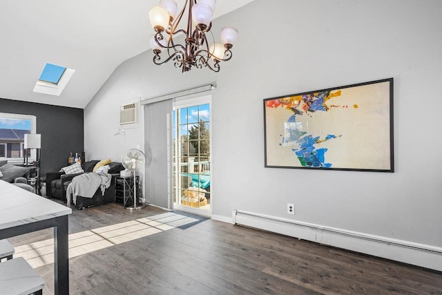
<path fill-rule="evenodd" d="M 73 210 L 70 234 L 162 213 Z M 10 238 L 52 238 L 51 230 Z M 38 267 L 53 294 L 53 264 Z M 206 220 L 70 258 L 70 294 L 442 294 L 442 274 Z"/>

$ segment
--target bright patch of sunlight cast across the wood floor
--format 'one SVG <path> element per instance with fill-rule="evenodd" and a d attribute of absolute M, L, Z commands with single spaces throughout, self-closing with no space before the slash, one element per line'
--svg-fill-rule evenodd
<path fill-rule="evenodd" d="M 70 234 L 69 258 L 174 229 L 177 222 L 183 225 L 195 219 L 168 212 Z M 34 268 L 54 263 L 54 239 L 17 246 L 14 256 L 25 258 Z"/>

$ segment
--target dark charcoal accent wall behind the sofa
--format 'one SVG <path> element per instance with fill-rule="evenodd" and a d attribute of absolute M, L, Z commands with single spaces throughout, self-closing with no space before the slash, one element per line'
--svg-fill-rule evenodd
<path fill-rule="evenodd" d="M 59 99 L 59 97 L 57 97 Z M 40 175 L 68 165 L 71 151 L 84 150 L 83 109 L 0 99 L 0 113 L 35 115 L 41 134 Z"/>

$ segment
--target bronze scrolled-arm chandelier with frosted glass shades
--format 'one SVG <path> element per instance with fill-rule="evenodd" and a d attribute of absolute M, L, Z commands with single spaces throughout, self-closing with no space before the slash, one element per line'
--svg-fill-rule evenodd
<path fill-rule="evenodd" d="M 231 48 L 236 41 L 236 28 L 222 28 L 222 44 L 215 44 L 211 32 L 211 19 L 216 0 L 186 0 L 184 7 L 177 14 L 177 3 L 173 0 L 160 0 L 159 6 L 149 10 L 149 19 L 155 30 L 151 35 L 153 63 L 165 64 L 173 60 L 176 68 L 182 68 L 182 73 L 191 68 L 207 67 L 214 72 L 220 71 L 220 61 L 228 61 L 232 57 Z M 187 9 L 187 23 L 180 26 L 184 12 Z M 210 33 L 210 35 L 209 35 Z M 184 44 L 174 41 L 176 35 L 184 34 Z M 207 35 L 211 36 L 209 46 Z M 175 39 L 176 40 L 176 39 Z M 160 54 L 166 50 L 166 59 L 162 61 Z"/>

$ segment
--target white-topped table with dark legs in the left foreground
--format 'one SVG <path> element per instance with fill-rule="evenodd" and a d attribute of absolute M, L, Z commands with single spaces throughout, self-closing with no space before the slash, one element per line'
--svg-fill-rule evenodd
<path fill-rule="evenodd" d="M 62 204 L 0 180 L 0 240 L 54 227 L 55 294 L 69 294 L 68 215 Z"/>

